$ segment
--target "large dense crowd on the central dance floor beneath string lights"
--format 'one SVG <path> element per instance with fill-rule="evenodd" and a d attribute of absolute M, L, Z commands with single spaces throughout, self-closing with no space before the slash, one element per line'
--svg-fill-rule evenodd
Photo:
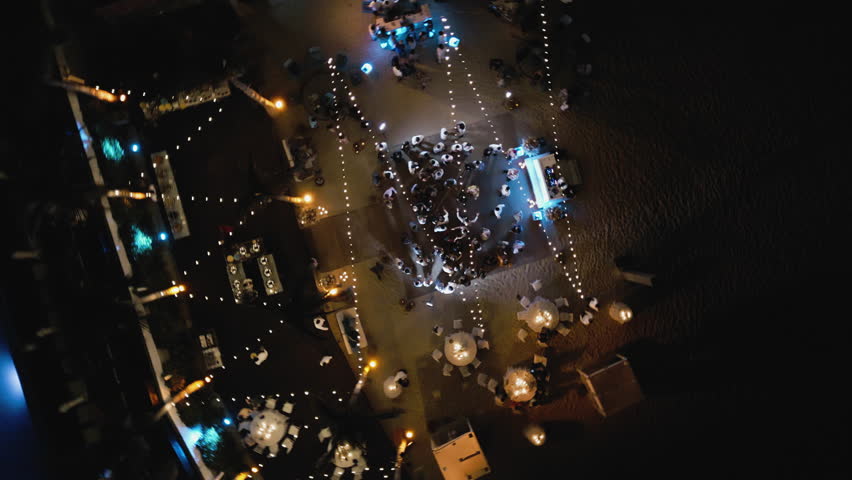
<path fill-rule="evenodd" d="M 504 150 L 502 144 L 490 144 L 481 155 L 475 155 L 476 147 L 465 139 L 466 131 L 467 126 L 461 121 L 452 128 L 442 128 L 434 142 L 415 135 L 395 151 L 390 151 L 387 142 L 376 147 L 384 170 L 374 174 L 374 183 L 387 187 L 382 195 L 385 205 L 393 209 L 399 204 L 400 192 L 394 182 L 400 181 L 405 185 L 413 215 L 409 231 L 401 238 L 409 259 L 397 257 L 394 263 L 412 277 L 415 287 L 434 287 L 444 294 L 484 278 L 492 268 L 510 265 L 513 256 L 525 248 L 521 211 L 512 215 L 514 222 L 506 232 L 508 239 L 492 242 L 486 248 L 492 240 L 492 230 L 483 225 L 480 212 L 468 209 L 482 195 L 479 185 L 473 182 L 474 172 L 484 170 L 490 162 L 507 163 L 503 169 L 506 183 L 494 195 L 499 199 L 511 193 L 510 185 L 519 172 L 512 166 L 517 160 L 516 149 Z M 505 206 L 497 204 L 485 217 L 493 215 L 499 220 Z"/>

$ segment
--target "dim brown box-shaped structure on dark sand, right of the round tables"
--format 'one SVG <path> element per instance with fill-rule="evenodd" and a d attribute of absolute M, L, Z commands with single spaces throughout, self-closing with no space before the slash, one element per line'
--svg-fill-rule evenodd
<path fill-rule="evenodd" d="M 607 417 L 642 400 L 642 390 L 630 362 L 615 355 L 588 369 L 578 370 L 589 396 L 601 415 Z"/>

